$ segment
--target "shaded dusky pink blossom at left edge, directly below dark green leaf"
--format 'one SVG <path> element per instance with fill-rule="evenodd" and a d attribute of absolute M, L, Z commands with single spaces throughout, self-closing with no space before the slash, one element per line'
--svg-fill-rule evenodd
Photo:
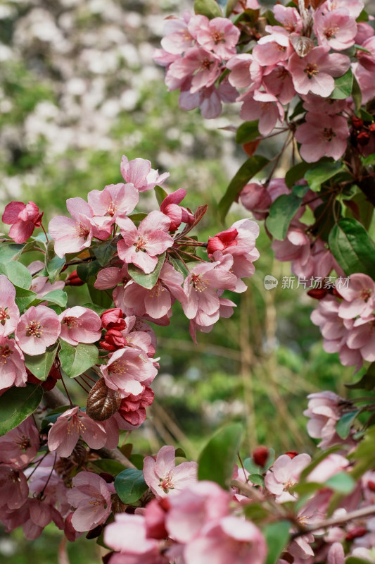
<path fill-rule="evenodd" d="M 0 437 L 0 460 L 13 468 L 24 468 L 39 450 L 39 431 L 32 417 Z"/>

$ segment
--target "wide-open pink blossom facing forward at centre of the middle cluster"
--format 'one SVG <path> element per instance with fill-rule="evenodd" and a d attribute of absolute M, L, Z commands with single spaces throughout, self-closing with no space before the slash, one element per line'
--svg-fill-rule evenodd
<path fill-rule="evenodd" d="M 173 239 L 167 233 L 170 219 L 157 210 L 142 219 L 138 229 L 128 217 L 119 217 L 116 223 L 122 235 L 117 243 L 118 256 L 127 264 L 135 264 L 146 274 L 155 269 L 158 255 L 173 245 Z"/>

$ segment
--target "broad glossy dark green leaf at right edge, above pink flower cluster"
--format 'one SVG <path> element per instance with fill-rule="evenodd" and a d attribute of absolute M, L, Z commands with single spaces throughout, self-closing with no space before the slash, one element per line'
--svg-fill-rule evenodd
<path fill-rule="evenodd" d="M 329 248 L 347 276 L 363 272 L 375 278 L 375 245 L 359 221 L 345 217 L 329 233 Z"/>

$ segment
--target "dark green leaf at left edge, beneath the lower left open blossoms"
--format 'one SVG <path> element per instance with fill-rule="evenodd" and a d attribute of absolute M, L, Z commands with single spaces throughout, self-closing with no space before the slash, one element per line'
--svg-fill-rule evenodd
<path fill-rule="evenodd" d="M 0 396 L 0 435 L 5 435 L 34 413 L 42 401 L 43 389 L 36 384 L 12 386 Z"/>

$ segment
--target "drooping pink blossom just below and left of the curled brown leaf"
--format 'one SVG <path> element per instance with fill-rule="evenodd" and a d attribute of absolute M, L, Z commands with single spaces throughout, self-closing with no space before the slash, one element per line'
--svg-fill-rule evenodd
<path fill-rule="evenodd" d="M 102 448 L 106 444 L 103 426 L 77 406 L 63 412 L 52 425 L 48 434 L 49 450 L 56 450 L 58 456 L 66 458 L 72 454 L 80 436 L 90 448 Z"/>

